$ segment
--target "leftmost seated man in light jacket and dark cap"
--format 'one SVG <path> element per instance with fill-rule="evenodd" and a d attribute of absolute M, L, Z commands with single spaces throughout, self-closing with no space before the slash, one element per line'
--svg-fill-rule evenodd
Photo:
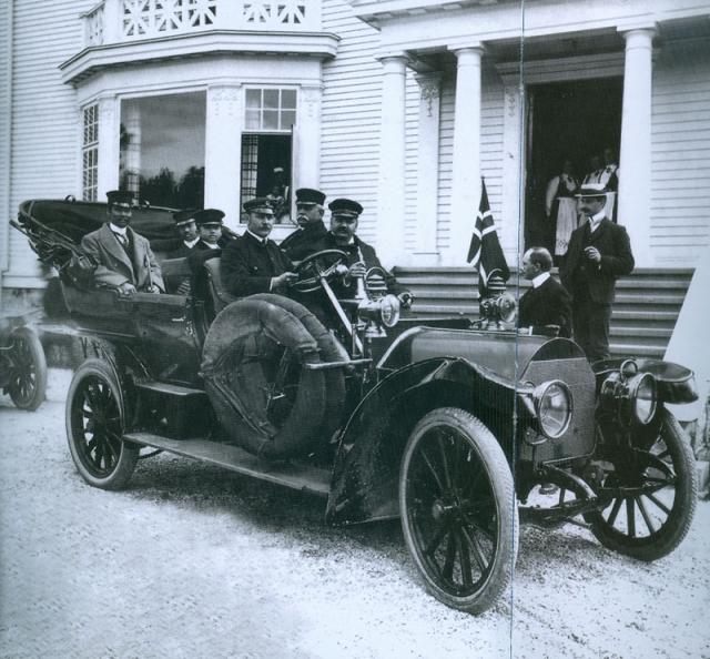
<path fill-rule="evenodd" d="M 97 286 L 115 288 L 121 295 L 161 293 L 165 286 L 150 243 L 129 226 L 133 194 L 112 190 L 106 197 L 109 221 L 81 241 L 98 264 L 93 272 Z"/>

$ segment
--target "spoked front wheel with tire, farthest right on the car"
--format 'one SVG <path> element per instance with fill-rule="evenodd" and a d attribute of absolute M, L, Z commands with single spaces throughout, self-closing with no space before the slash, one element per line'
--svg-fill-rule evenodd
<path fill-rule="evenodd" d="M 688 438 L 670 412 L 661 414 L 651 446 L 633 448 L 608 463 L 600 493 L 608 504 L 586 515 L 591 533 L 605 547 L 640 560 L 656 560 L 678 547 L 698 500 Z"/>

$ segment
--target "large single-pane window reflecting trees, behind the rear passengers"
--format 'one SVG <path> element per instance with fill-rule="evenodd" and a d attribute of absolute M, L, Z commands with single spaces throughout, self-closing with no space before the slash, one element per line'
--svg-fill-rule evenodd
<path fill-rule="evenodd" d="M 120 187 L 154 206 L 204 204 L 206 93 L 121 102 Z"/>

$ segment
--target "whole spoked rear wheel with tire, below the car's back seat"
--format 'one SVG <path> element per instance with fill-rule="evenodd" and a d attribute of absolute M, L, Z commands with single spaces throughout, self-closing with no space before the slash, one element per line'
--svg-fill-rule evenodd
<path fill-rule="evenodd" d="M 74 374 L 67 394 L 67 439 L 77 470 L 102 489 L 125 487 L 139 447 L 123 440 L 123 396 L 111 366 L 88 359 Z"/>

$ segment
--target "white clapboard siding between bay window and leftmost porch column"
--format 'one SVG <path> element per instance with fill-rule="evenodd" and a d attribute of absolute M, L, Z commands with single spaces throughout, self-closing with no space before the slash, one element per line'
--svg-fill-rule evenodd
<path fill-rule="evenodd" d="M 376 236 L 382 113 L 379 33 L 353 16 L 344 0 L 324 0 L 323 29 L 338 34 L 337 57 L 323 65 L 321 187 L 329 199 L 364 206 L 358 233 Z"/>

